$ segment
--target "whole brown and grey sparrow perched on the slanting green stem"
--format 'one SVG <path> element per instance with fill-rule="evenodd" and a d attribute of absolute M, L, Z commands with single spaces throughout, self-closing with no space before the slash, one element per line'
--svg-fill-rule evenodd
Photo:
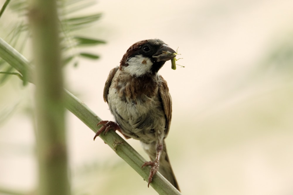
<path fill-rule="evenodd" d="M 138 139 L 151 161 L 148 186 L 159 171 L 179 190 L 164 139 L 171 123 L 172 103 L 166 80 L 159 69 L 176 53 L 160 39 L 134 43 L 124 54 L 120 66 L 110 71 L 104 88 L 104 101 L 108 103 L 116 122 L 100 121 L 103 131 L 120 131 L 126 138 Z"/>

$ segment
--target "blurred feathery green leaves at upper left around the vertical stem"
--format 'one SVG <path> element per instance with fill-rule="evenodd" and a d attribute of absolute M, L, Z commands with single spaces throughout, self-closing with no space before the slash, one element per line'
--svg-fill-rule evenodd
<path fill-rule="evenodd" d="M 0 10 L 0 36 L 20 53 L 26 53 L 30 32 L 26 13 L 28 12 L 27 0 L 6 0 Z M 95 4 L 92 0 L 63 0 L 58 1 L 60 38 L 63 64 L 79 64 L 80 58 L 96 60 L 100 56 L 96 53 L 84 51 L 105 41 L 80 34 L 81 30 L 92 26 L 101 18 L 101 13 L 80 15 L 79 13 Z M 11 21 L 9 18 L 13 18 Z M 7 24 L 9 23 L 9 24 Z M 31 59 L 33 61 L 33 59 Z M 16 71 L 0 58 L 0 85 L 8 80 Z M 24 82 L 25 83 L 25 82 Z"/>

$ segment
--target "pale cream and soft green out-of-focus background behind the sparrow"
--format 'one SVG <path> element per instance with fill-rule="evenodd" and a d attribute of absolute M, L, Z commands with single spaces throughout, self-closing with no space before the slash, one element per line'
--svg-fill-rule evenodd
<path fill-rule="evenodd" d="M 109 71 L 133 43 L 162 39 L 179 47 L 177 63 L 185 66 L 172 70 L 167 62 L 159 71 L 173 99 L 166 144 L 182 194 L 293 194 L 293 1 L 95 3 L 77 15 L 102 18 L 80 33 L 106 44 L 89 49 L 97 61 L 64 68 L 70 92 L 113 120 L 103 101 Z M 21 16 L 8 11 L 1 18 L 3 39 L 19 19 L 13 17 Z M 28 42 L 22 53 L 31 60 L 30 49 Z M 0 94 L 0 187 L 31 192 L 34 86 L 12 77 Z M 67 132 L 73 194 L 156 194 L 69 112 Z M 127 141 L 148 159 L 139 141 Z"/>

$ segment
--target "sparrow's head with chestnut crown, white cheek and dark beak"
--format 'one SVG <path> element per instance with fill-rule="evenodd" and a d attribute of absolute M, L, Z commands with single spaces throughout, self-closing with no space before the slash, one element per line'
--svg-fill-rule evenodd
<path fill-rule="evenodd" d="M 120 61 L 120 70 L 135 77 L 156 74 L 168 60 L 176 55 L 160 39 L 147 39 L 134 43 Z"/>

